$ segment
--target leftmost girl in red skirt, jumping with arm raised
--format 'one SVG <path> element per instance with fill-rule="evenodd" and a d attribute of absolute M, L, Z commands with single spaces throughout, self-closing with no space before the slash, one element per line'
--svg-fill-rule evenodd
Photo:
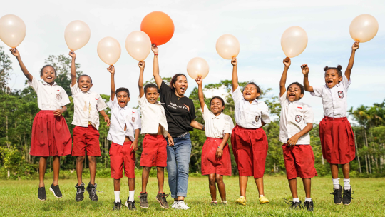
<path fill-rule="evenodd" d="M 56 70 L 53 66 L 46 65 L 40 71 L 40 77 L 43 82 L 38 81 L 32 76 L 24 66 L 19 51 L 10 50 L 12 55 L 16 56 L 21 71 L 28 79 L 29 86 L 36 91 L 38 96 L 38 106 L 41 111 L 36 114 L 32 126 L 31 156 L 40 156 L 39 162 L 39 200 L 45 201 L 46 188 L 44 186 L 44 174 L 48 156 L 53 156 L 53 183 L 50 191 L 56 198 L 61 198 L 61 191 L 58 186 L 58 176 L 60 169 L 60 157 L 71 154 L 71 134 L 68 130 L 66 119 L 61 115 L 67 110 L 66 104 L 69 104 L 68 95 L 61 86 L 56 84 Z"/>

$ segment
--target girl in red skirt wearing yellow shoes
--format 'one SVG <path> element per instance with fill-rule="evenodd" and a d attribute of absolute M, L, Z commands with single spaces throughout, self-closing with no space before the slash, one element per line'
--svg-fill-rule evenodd
<path fill-rule="evenodd" d="M 260 87 L 254 82 L 245 86 L 243 92 L 238 85 L 237 59 L 232 64 L 232 99 L 235 105 L 235 122 L 232 130 L 231 145 L 240 174 L 240 198 L 237 203 L 246 205 L 246 187 L 248 176 L 254 176 L 260 193 L 260 204 L 269 203 L 263 189 L 263 174 L 267 156 L 267 137 L 262 126 L 270 123 L 269 108 L 259 101 Z"/>

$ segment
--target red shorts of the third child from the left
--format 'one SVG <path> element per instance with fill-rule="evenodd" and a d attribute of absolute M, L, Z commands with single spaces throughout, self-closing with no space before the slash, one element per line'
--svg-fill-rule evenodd
<path fill-rule="evenodd" d="M 123 177 L 123 164 L 125 177 L 135 178 L 135 151 L 131 152 L 133 148 L 130 148 L 132 143 L 132 141 L 127 141 L 123 146 L 117 143 L 111 144 L 109 153 L 112 178 Z"/>

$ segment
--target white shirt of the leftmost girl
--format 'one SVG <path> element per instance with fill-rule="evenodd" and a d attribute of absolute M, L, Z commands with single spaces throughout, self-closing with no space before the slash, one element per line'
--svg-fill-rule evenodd
<path fill-rule="evenodd" d="M 32 81 L 28 81 L 29 86 L 34 89 L 38 96 L 38 106 L 40 110 L 57 110 L 70 103 L 66 91 L 56 82 L 49 85 L 46 81 L 38 81 L 33 76 Z"/>

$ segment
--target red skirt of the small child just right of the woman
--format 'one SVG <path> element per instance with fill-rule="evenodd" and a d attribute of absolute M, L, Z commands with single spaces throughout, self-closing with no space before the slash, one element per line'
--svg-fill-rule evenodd
<path fill-rule="evenodd" d="M 222 138 L 207 137 L 202 148 L 202 175 L 231 176 L 230 148 L 227 143 L 223 148 L 223 155 L 217 158 L 217 148 L 222 141 Z"/>

